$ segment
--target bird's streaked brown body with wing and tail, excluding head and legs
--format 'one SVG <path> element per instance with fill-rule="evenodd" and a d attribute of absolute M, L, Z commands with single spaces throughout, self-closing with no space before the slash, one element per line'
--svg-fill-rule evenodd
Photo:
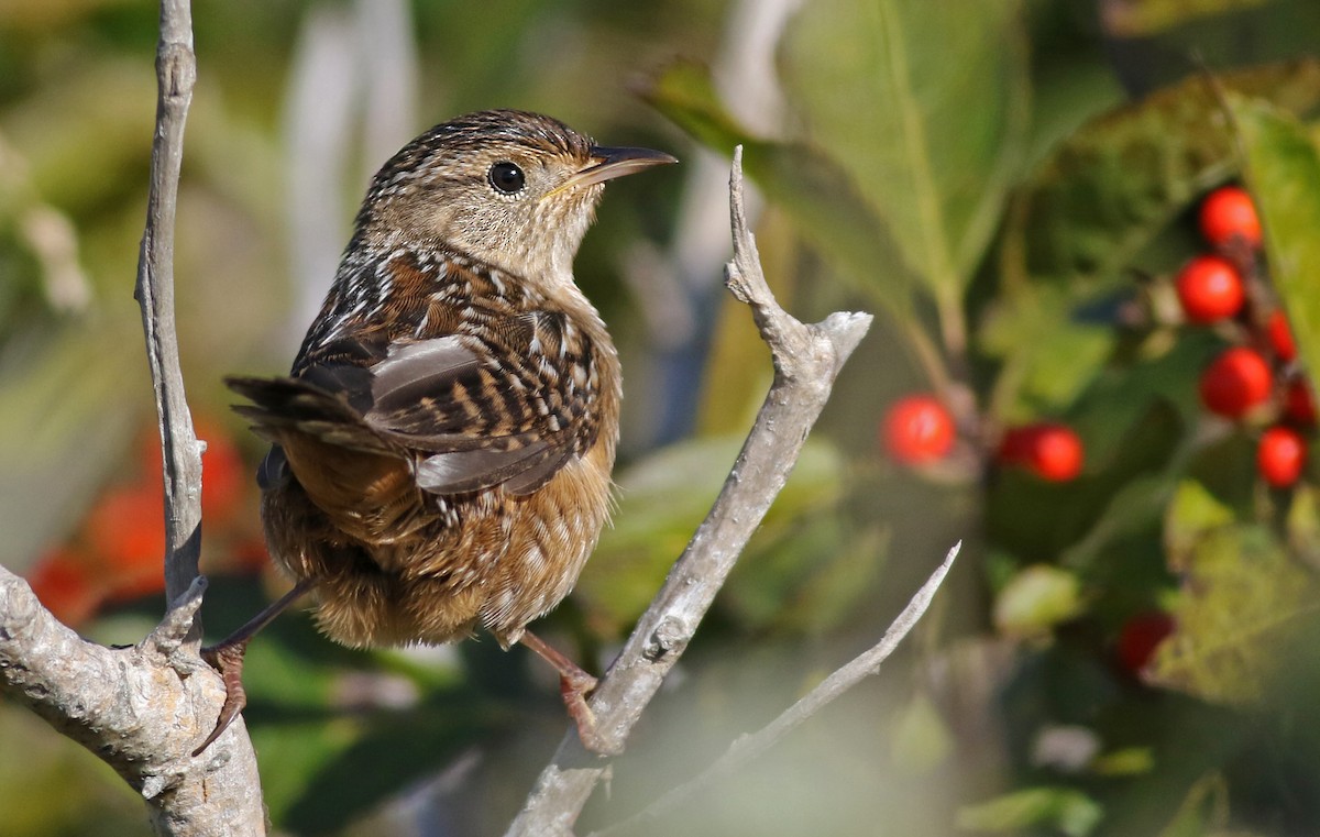
<path fill-rule="evenodd" d="M 515 642 L 607 518 L 618 358 L 576 286 L 444 250 L 358 251 L 290 378 L 230 384 L 273 444 L 272 556 L 317 580 L 318 620 L 346 644 L 478 626 Z"/>

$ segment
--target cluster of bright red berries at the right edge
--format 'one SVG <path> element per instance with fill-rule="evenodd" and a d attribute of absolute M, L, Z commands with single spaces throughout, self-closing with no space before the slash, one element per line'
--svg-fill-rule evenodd
<path fill-rule="evenodd" d="M 1234 421 L 1274 418 L 1261 434 L 1257 467 L 1266 483 L 1287 488 L 1302 478 L 1307 445 L 1303 430 L 1315 425 L 1315 403 L 1294 366 L 1298 347 L 1287 316 L 1272 308 L 1254 281 L 1261 222 L 1251 197 L 1237 186 L 1210 193 L 1200 207 L 1200 228 L 1213 253 L 1179 271 L 1177 298 L 1188 322 L 1238 322 L 1239 345 L 1224 350 L 1201 372 L 1201 404 Z"/>

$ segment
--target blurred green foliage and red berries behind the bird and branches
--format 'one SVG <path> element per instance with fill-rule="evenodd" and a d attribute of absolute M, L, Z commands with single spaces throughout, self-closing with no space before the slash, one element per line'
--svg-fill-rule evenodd
<path fill-rule="evenodd" d="M 162 611 L 132 300 L 156 16 L 0 0 L 0 560 L 106 643 Z M 623 354 L 620 502 L 543 632 L 603 669 L 771 379 L 721 285 L 742 143 L 780 301 L 878 317 L 579 833 L 871 646 L 958 540 L 880 676 L 619 833 L 1320 832 L 1320 4 L 230 0 L 194 28 L 176 276 L 209 638 L 282 590 L 220 378 L 286 370 L 380 162 L 517 107 L 684 164 L 611 185 L 577 261 Z M 1234 185 L 1241 223 L 1206 201 Z M 246 681 L 281 834 L 500 833 L 566 727 L 546 667 L 488 639 L 352 652 L 290 613 Z M 3 700 L 0 742 L 0 836 L 148 833 Z"/>

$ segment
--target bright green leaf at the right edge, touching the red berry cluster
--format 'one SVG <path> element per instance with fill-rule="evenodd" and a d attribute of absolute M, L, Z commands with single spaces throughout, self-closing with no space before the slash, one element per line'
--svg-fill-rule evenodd
<path fill-rule="evenodd" d="M 1245 174 L 1265 228 L 1274 286 L 1312 378 L 1320 371 L 1320 151 L 1290 114 L 1261 99 L 1228 95 Z"/>

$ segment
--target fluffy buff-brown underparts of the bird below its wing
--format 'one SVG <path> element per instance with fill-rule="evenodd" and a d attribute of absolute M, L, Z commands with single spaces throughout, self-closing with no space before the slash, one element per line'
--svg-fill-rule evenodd
<path fill-rule="evenodd" d="M 335 642 L 438 644 L 484 628 L 508 646 L 569 594 L 594 549 L 610 504 L 603 459 L 589 452 L 529 496 L 454 498 L 409 537 L 375 544 L 290 483 L 265 498 L 267 537 L 281 569 L 317 581 L 315 618 Z"/>

